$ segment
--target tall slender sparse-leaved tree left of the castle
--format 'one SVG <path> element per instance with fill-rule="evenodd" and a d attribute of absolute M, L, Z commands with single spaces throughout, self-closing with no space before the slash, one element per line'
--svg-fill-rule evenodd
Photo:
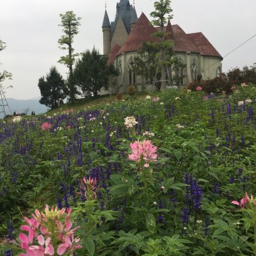
<path fill-rule="evenodd" d="M 73 79 L 73 65 L 75 62 L 75 58 L 79 54 L 74 53 L 74 49 L 72 47 L 74 36 L 78 34 L 78 27 L 80 26 L 80 17 L 77 17 L 73 11 L 68 11 L 65 14 L 60 14 L 62 18 L 62 23 L 59 26 L 63 27 L 62 32 L 64 35 L 59 39 L 58 43 L 60 44 L 60 49 L 68 50 L 68 55 L 60 57 L 59 63 L 62 63 L 69 68 L 69 76 L 65 88 L 65 93 L 71 99 L 72 104 L 76 99 L 77 89 L 74 85 Z"/>

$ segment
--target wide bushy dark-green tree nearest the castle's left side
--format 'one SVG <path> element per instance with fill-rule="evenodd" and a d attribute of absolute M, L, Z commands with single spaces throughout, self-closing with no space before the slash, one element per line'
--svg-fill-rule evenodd
<path fill-rule="evenodd" d="M 98 96 L 102 87 L 107 89 L 110 75 L 117 76 L 118 71 L 95 48 L 84 52 L 74 68 L 74 82 L 85 97 Z"/>

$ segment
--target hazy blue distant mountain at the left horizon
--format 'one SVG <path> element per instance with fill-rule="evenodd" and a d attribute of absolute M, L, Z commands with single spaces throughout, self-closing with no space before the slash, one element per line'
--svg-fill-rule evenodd
<path fill-rule="evenodd" d="M 27 112 L 27 114 L 30 114 L 32 111 L 34 111 L 36 114 L 44 113 L 48 110 L 48 107 L 45 105 L 41 105 L 39 103 L 40 97 L 32 98 L 32 99 L 13 99 L 13 98 L 7 98 L 7 102 L 9 104 L 11 112 L 16 113 L 24 113 Z M 28 110 L 27 110 L 28 109 Z M 0 112 L 2 111 L 0 107 Z M 7 114 L 9 113 L 8 109 L 5 109 Z M 3 114 L 0 113 L 0 118 L 3 118 Z"/>

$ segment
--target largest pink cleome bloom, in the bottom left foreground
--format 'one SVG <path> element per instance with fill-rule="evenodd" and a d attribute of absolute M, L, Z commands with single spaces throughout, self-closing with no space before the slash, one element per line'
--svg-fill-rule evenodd
<path fill-rule="evenodd" d="M 80 239 L 74 238 L 74 232 L 79 227 L 71 229 L 70 215 L 71 208 L 58 210 L 52 207 L 49 210 L 46 205 L 44 213 L 36 209 L 31 219 L 25 217 L 28 225 L 21 226 L 21 230 L 29 232 L 29 235 L 20 233 L 19 245 L 26 251 L 21 256 L 63 255 L 65 252 L 73 255 L 76 249 L 82 248 Z"/>

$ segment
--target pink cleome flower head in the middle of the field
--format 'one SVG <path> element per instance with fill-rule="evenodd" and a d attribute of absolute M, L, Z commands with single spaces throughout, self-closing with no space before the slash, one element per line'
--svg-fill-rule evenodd
<path fill-rule="evenodd" d="M 130 143 L 130 148 L 132 154 L 129 155 L 129 159 L 135 162 L 144 161 L 144 167 L 149 167 L 149 162 L 157 161 L 157 147 L 150 140 L 135 141 Z"/>

